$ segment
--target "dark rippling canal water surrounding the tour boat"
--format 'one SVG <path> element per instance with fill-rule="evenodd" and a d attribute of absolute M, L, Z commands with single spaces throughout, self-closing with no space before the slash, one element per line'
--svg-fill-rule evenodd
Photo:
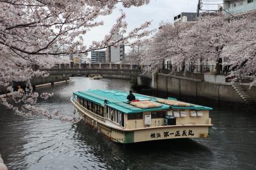
<path fill-rule="evenodd" d="M 117 79 L 77 77 L 67 84 L 37 89 L 54 92 L 38 107 L 72 116 L 73 91 L 121 89 Z M 90 126 L 15 116 L 0 107 L 0 153 L 9 169 L 256 169 L 256 115 L 214 109 L 209 139 L 116 144 Z"/>

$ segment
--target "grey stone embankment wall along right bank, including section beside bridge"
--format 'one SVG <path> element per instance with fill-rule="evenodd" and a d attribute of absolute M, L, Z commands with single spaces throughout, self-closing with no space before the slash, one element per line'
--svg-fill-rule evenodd
<path fill-rule="evenodd" d="M 209 98 L 216 102 L 227 101 L 244 104 L 243 99 L 236 93 L 230 82 L 205 82 L 204 78 L 204 74 L 200 73 L 186 76 L 182 73 L 180 75 L 179 73 L 174 75 L 157 73 L 151 80 L 141 78 L 138 85 L 154 88 L 161 97 Z M 250 88 L 249 84 L 242 85 L 256 100 L 256 86 Z"/>

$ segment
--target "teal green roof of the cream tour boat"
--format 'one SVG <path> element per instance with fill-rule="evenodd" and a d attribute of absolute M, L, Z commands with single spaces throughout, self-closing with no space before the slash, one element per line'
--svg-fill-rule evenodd
<path fill-rule="evenodd" d="M 135 113 L 135 112 L 147 112 L 147 111 L 161 111 L 170 109 L 170 105 L 161 104 L 161 107 L 151 108 L 151 109 L 141 109 L 138 107 L 134 107 L 130 105 L 126 99 L 128 92 L 124 91 L 115 91 L 115 90 L 103 90 L 103 89 L 89 89 L 87 91 L 77 91 L 74 93 L 78 97 L 84 98 L 86 100 L 90 100 L 91 102 L 95 102 L 99 105 L 108 105 L 113 109 L 116 109 L 120 112 L 124 113 Z M 151 100 L 152 102 L 156 102 L 156 97 L 149 97 L 146 95 L 140 95 L 134 93 L 134 96 L 138 100 Z M 108 102 L 104 102 L 108 100 Z M 193 107 L 174 107 L 171 106 L 173 109 L 195 109 L 195 110 L 211 110 L 210 107 L 204 107 L 200 105 L 193 105 Z"/>

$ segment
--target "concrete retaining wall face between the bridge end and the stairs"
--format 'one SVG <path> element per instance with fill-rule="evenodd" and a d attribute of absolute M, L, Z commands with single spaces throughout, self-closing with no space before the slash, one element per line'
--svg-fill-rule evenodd
<path fill-rule="evenodd" d="M 216 84 L 202 82 L 200 79 L 186 79 L 172 75 L 158 74 L 157 91 L 177 96 L 204 97 L 214 100 L 243 102 L 241 97 L 232 88 L 231 84 Z M 256 97 L 255 87 L 250 90 L 252 97 Z"/>

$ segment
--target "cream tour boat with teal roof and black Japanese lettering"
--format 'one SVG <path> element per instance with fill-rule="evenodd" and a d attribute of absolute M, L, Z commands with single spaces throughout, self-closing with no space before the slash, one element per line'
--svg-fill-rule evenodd
<path fill-rule="evenodd" d="M 70 98 L 83 121 L 116 143 L 162 139 L 207 138 L 212 127 L 211 107 L 129 92 L 89 89 Z"/>

